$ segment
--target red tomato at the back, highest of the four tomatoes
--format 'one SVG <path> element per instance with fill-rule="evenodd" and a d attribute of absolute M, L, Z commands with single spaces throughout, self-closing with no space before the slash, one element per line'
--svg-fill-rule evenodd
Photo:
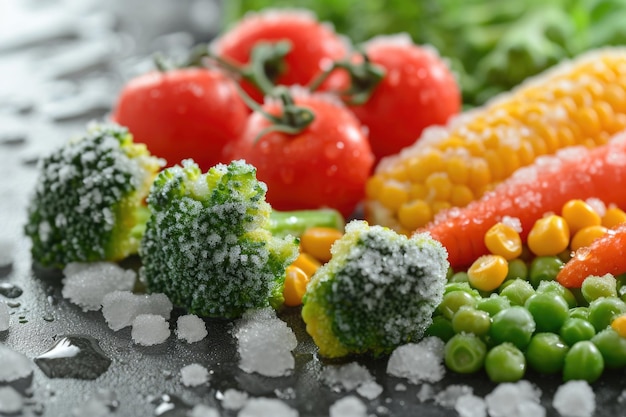
<path fill-rule="evenodd" d="M 259 42 L 282 40 L 291 43 L 284 68 L 265 69 L 265 75 L 275 85 L 306 86 L 333 61 L 345 59 L 349 51 L 347 41 L 330 25 L 317 20 L 310 11 L 293 9 L 267 9 L 248 14 L 216 39 L 211 49 L 218 57 L 248 64 L 252 49 Z M 278 73 L 273 74 L 276 71 Z M 318 90 L 342 90 L 348 82 L 347 74 L 336 71 Z M 263 92 L 250 82 L 242 80 L 241 86 L 250 97 L 263 102 Z"/>

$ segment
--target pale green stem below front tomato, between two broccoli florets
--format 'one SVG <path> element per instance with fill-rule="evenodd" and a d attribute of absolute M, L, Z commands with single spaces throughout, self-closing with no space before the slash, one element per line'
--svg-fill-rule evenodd
<path fill-rule="evenodd" d="M 270 214 L 268 229 L 274 236 L 300 236 L 309 227 L 331 227 L 343 230 L 345 220 L 334 209 L 277 211 Z"/>

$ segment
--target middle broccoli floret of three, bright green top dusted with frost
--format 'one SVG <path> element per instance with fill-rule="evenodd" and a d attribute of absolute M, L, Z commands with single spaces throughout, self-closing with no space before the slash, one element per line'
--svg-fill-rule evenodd
<path fill-rule="evenodd" d="M 139 250 L 148 289 L 205 317 L 239 317 L 280 297 L 298 239 L 269 231 L 266 191 L 244 161 L 204 174 L 191 160 L 162 171 Z"/>

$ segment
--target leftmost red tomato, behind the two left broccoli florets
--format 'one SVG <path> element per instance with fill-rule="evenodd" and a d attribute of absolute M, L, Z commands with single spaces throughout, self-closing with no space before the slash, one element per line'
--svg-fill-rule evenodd
<path fill-rule="evenodd" d="M 130 80 L 112 118 L 168 165 L 193 158 L 206 171 L 225 161 L 224 146 L 241 134 L 249 114 L 231 78 L 215 69 L 185 68 Z"/>

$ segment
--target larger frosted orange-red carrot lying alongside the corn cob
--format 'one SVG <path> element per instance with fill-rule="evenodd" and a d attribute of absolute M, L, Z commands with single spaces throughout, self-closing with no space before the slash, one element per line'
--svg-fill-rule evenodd
<path fill-rule="evenodd" d="M 418 231 L 430 232 L 448 250 L 453 268 L 466 267 L 487 253 L 487 230 L 505 217 L 519 219 L 523 241 L 535 221 L 559 213 L 567 201 L 598 198 L 626 207 L 626 131 L 605 145 L 569 147 L 520 168 L 482 198 L 440 213 Z"/>

